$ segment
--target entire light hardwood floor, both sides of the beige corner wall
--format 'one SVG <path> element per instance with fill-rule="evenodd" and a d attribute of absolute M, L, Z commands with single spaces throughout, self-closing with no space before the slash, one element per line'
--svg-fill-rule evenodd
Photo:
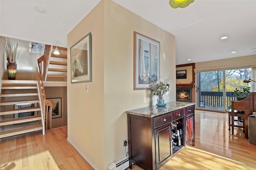
<path fill-rule="evenodd" d="M 196 111 L 196 146 L 184 147 L 161 170 L 256 170 L 256 146 L 228 114 Z M 93 170 L 68 143 L 67 127 L 0 140 L 0 170 Z M 129 168 L 127 168 L 129 170 Z M 134 165 L 133 170 L 142 170 Z"/>

